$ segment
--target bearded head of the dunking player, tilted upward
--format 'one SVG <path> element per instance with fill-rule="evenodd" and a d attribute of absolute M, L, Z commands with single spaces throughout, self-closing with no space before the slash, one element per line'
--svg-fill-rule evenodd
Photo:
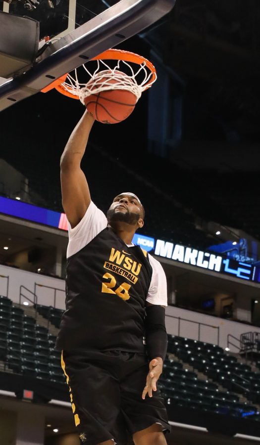
<path fill-rule="evenodd" d="M 111 226 L 118 222 L 128 223 L 136 230 L 144 225 L 145 209 L 134 193 L 124 192 L 113 199 L 106 216 Z"/>

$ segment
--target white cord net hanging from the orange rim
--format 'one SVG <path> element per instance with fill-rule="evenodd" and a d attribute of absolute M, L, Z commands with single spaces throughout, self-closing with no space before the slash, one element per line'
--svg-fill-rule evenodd
<path fill-rule="evenodd" d="M 78 96 L 83 104 L 85 98 L 91 94 L 98 94 L 101 91 L 111 89 L 124 89 L 130 91 L 136 96 L 136 101 L 138 101 L 142 92 L 145 89 L 150 88 L 156 81 L 155 75 L 155 78 L 151 82 L 153 73 L 147 67 L 145 61 L 138 64 L 137 70 L 136 64 L 134 64 L 135 71 L 132 64 L 125 60 L 114 61 L 116 62 L 116 65 L 113 68 L 111 68 L 103 59 L 99 59 L 96 62 L 97 68 L 93 73 L 90 72 L 86 64 L 82 65 L 89 76 L 87 83 L 79 82 L 76 68 L 74 70 L 74 76 L 71 73 L 68 74 L 65 82 L 61 84 L 63 89 Z"/>

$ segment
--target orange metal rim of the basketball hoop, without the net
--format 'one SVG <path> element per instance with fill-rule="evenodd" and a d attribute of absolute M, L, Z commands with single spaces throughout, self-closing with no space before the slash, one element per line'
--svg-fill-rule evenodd
<path fill-rule="evenodd" d="M 149 86 L 156 80 L 156 69 L 153 63 L 151 63 L 148 59 L 146 59 L 143 56 L 140 56 L 139 54 L 135 54 L 134 52 L 130 51 L 124 51 L 122 49 L 107 49 L 106 51 L 102 52 L 101 54 L 97 55 L 96 57 L 93 57 L 91 60 L 124 60 L 125 62 L 133 62 L 136 64 L 141 64 L 145 62 L 145 66 L 150 69 L 152 73 L 151 79 L 147 82 L 146 89 L 149 88 Z M 72 94 L 70 91 L 65 89 L 63 87 L 63 82 L 65 82 L 67 78 L 68 73 L 63 74 L 63 76 L 59 77 L 58 79 L 54 80 L 50 85 L 42 89 L 42 92 L 48 92 L 51 89 L 55 88 L 58 92 L 61 94 L 64 94 L 65 96 L 71 97 L 72 99 L 79 99 L 79 97 L 75 94 Z M 69 88 L 69 87 L 67 87 Z M 72 89 L 71 89 L 72 90 Z"/>

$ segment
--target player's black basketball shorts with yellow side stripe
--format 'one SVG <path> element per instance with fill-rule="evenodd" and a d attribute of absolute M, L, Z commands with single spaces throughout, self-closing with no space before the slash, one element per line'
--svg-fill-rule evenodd
<path fill-rule="evenodd" d="M 66 352 L 61 364 L 69 386 L 81 443 L 113 439 L 125 445 L 132 435 L 154 423 L 171 431 L 159 389 L 142 399 L 149 372 L 148 357 L 122 351 Z"/>

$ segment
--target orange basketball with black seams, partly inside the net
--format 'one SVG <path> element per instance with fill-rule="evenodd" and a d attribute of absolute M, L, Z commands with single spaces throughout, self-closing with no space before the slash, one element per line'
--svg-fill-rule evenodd
<path fill-rule="evenodd" d="M 107 88 L 109 84 L 118 83 L 118 79 L 104 76 L 105 74 L 110 75 L 110 73 L 109 70 L 101 71 L 96 75 L 95 79 L 91 79 L 88 82 L 86 87 L 88 89 L 94 89 L 103 84 L 104 87 Z M 128 86 L 133 84 L 133 80 L 125 73 L 121 71 L 115 71 L 115 73 L 123 77 L 122 84 Z M 91 94 L 84 99 L 87 110 L 93 115 L 96 121 L 102 124 L 117 124 L 124 121 L 134 110 L 136 102 L 136 95 L 131 91 L 123 89 L 123 85 L 122 89 L 105 89 L 97 94 Z"/>

